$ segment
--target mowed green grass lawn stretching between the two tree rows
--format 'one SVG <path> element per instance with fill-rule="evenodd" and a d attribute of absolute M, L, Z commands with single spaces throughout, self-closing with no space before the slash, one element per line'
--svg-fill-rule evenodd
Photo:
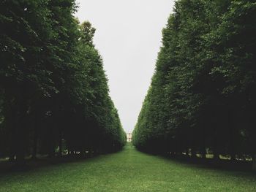
<path fill-rule="evenodd" d="M 127 145 L 84 161 L 0 174 L 0 191 L 256 191 L 256 175 L 182 164 Z"/>

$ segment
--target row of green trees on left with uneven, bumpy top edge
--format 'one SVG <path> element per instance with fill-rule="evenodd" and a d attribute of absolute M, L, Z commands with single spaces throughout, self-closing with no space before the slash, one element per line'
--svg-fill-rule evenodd
<path fill-rule="evenodd" d="M 75 0 L 0 2 L 0 157 L 108 153 L 126 134 Z"/>

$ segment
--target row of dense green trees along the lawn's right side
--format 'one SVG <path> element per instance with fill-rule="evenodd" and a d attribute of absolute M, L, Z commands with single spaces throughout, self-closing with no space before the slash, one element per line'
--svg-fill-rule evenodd
<path fill-rule="evenodd" d="M 176 1 L 134 145 L 256 159 L 255 34 L 256 1 Z"/>

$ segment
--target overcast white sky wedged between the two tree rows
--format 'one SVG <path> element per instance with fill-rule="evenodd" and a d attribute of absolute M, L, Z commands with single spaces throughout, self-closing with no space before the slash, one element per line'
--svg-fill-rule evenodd
<path fill-rule="evenodd" d="M 110 96 L 122 126 L 132 132 L 146 96 L 162 28 L 174 0 L 77 0 L 76 16 L 97 29 L 94 37 L 104 61 Z"/>

